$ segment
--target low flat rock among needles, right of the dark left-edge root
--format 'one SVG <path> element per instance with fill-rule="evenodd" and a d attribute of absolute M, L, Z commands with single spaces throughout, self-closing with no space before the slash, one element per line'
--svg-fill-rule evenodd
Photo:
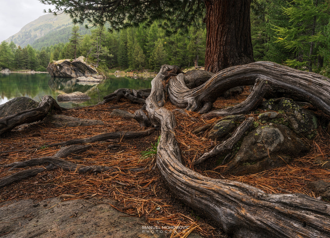
<path fill-rule="evenodd" d="M 44 123 L 51 124 L 54 127 L 78 127 L 78 126 L 94 126 L 104 125 L 101 120 L 92 120 L 78 117 L 71 117 L 65 115 L 48 115 Z"/>

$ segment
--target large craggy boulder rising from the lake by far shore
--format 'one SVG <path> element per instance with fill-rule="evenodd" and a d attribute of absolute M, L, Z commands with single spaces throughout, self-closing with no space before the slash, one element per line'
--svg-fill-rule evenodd
<path fill-rule="evenodd" d="M 52 77 L 63 78 L 78 78 L 78 77 L 93 77 L 97 79 L 104 79 L 96 68 L 87 64 L 84 61 L 85 57 L 80 56 L 75 60 L 58 60 L 50 62 L 47 71 Z"/>

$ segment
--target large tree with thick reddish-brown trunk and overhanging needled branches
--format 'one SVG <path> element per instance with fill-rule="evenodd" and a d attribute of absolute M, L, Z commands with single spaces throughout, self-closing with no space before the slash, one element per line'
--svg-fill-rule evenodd
<path fill-rule="evenodd" d="M 54 5 L 51 13 L 64 11 L 74 23 L 91 25 L 110 23 L 111 29 L 150 25 L 162 20 L 167 32 L 187 29 L 200 18 L 207 27 L 205 69 L 224 68 L 253 62 L 250 33 L 251 0 L 40 0 Z"/>

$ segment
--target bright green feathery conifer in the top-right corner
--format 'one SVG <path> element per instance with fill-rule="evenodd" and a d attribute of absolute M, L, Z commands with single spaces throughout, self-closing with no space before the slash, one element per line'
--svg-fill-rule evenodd
<path fill-rule="evenodd" d="M 276 27 L 278 43 L 289 49 L 295 58 L 288 60 L 291 66 L 306 66 L 312 72 L 314 62 L 322 67 L 324 55 L 320 48 L 328 47 L 325 28 L 329 23 L 329 1 L 293 0 L 284 8 L 289 17 L 289 27 Z"/>

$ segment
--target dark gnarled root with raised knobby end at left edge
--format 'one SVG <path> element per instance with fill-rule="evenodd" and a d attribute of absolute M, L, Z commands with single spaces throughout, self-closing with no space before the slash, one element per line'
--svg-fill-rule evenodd
<path fill-rule="evenodd" d="M 38 107 L 0 118 L 0 135 L 11 131 L 16 126 L 43 120 L 51 111 L 61 112 L 61 107 L 55 99 L 46 95 L 42 98 Z"/>

